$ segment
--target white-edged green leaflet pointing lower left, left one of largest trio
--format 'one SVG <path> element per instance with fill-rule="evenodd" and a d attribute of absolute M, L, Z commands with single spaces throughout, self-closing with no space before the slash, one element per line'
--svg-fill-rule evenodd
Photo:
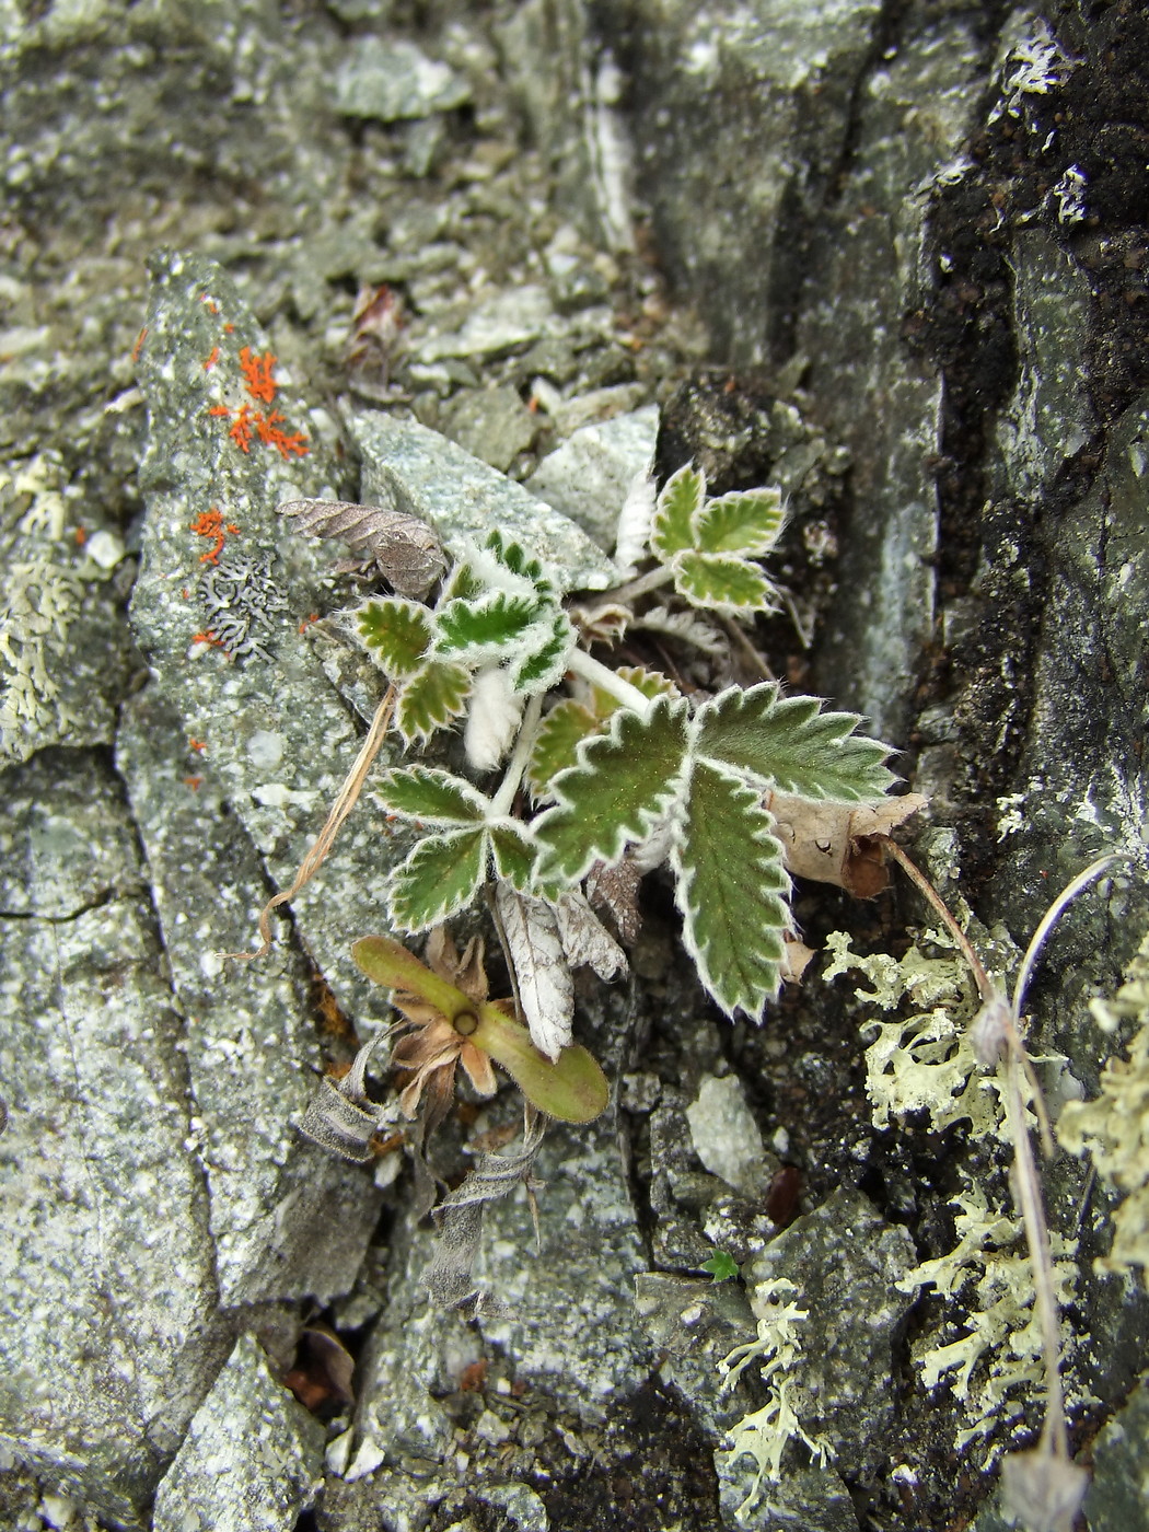
<path fill-rule="evenodd" d="M 666 813 L 682 783 L 686 703 L 659 697 L 645 717 L 620 708 L 578 764 L 552 781 L 558 803 L 535 821 L 538 881 L 570 885 L 596 861 L 613 864 Z"/>

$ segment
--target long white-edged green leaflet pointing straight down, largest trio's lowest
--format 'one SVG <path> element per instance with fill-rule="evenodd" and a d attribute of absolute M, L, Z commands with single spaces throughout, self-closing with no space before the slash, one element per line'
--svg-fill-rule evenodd
<path fill-rule="evenodd" d="M 734 772 L 696 761 L 671 864 L 682 941 L 726 1016 L 761 1020 L 781 984 L 789 878 L 761 795 Z"/>

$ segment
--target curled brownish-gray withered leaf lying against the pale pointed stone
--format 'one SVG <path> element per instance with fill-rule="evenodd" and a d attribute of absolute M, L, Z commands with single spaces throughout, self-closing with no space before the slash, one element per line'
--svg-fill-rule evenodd
<path fill-rule="evenodd" d="M 288 499 L 279 510 L 314 538 L 340 538 L 357 556 L 355 568 L 377 568 L 400 596 L 418 601 L 447 567 L 434 527 L 409 510 L 398 483 L 391 506 L 346 499 Z"/>

